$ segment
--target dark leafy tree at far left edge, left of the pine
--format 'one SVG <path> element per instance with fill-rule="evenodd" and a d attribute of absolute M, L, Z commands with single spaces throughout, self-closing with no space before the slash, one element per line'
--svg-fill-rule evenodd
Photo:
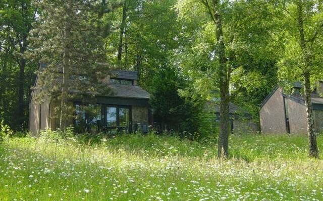
<path fill-rule="evenodd" d="M 33 4 L 33 1 L 10 1 L 5 0 L 0 3 L 0 31 L 6 33 L 2 37 L 2 44 L 5 45 L 5 55 L 7 58 L 3 58 L 3 80 L 5 80 L 5 73 L 8 72 L 7 65 L 10 64 L 10 60 L 15 61 L 19 66 L 19 72 L 17 73 L 17 86 L 18 86 L 18 107 L 15 111 L 16 122 L 14 123 L 15 129 L 24 129 L 26 127 L 26 116 L 28 116 L 28 110 L 26 110 L 26 103 L 28 101 L 29 93 L 28 84 L 32 80 L 29 70 L 34 69 L 34 64 L 27 61 L 24 57 L 24 53 L 29 47 L 28 36 L 30 30 L 33 28 L 35 22 L 36 13 L 38 9 Z M 26 77 L 26 65 L 27 77 Z M 6 68 L 6 69 L 5 69 Z M 27 90 L 26 90 L 27 89 Z M 4 92 L 3 92 L 4 93 Z M 27 96 L 27 98 L 25 98 Z M 7 115 L 7 114 L 6 114 Z"/>

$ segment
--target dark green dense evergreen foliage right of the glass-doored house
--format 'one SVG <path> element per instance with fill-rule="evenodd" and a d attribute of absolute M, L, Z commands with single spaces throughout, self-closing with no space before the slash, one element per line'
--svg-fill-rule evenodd
<path fill-rule="evenodd" d="M 160 69 L 155 74 L 150 89 L 154 121 L 157 127 L 165 127 L 180 135 L 206 136 L 209 133 L 204 131 L 209 128 L 201 128 L 206 126 L 201 122 L 204 117 L 203 100 L 181 95 L 190 83 L 173 67 Z M 208 118 L 207 121 L 211 123 L 213 120 Z"/>

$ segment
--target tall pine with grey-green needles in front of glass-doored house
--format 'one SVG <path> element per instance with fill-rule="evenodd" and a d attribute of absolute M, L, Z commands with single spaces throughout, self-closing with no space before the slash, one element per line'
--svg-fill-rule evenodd
<path fill-rule="evenodd" d="M 107 90 L 100 79 L 107 74 L 103 33 L 107 22 L 102 23 L 105 13 L 116 5 L 105 1 L 56 0 L 42 1 L 40 25 L 33 30 L 35 60 L 46 64 L 38 70 L 39 99 L 50 98 L 60 102 L 60 129 L 64 130 L 71 107 L 68 100 L 74 94 L 97 94 Z"/>

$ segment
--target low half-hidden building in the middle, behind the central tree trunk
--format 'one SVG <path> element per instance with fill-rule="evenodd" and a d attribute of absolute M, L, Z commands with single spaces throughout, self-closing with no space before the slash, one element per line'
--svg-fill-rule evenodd
<path fill-rule="evenodd" d="M 215 121 L 220 122 L 220 108 L 216 102 L 207 102 L 206 110 L 212 111 L 215 114 Z M 250 113 L 244 111 L 237 105 L 229 103 L 229 121 L 232 133 L 248 133 L 257 132 L 259 130 Z"/>

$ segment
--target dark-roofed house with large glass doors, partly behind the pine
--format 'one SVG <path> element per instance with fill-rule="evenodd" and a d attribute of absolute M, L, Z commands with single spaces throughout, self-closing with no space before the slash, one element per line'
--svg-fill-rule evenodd
<path fill-rule="evenodd" d="M 112 71 L 111 76 L 107 75 L 101 80 L 102 84 L 110 87 L 111 93 L 95 95 L 94 104 L 85 104 L 78 99 L 69 100 L 74 107 L 74 115 L 71 115 L 69 123 L 73 123 L 76 132 L 129 132 L 138 126 L 147 128 L 152 123 L 150 95 L 137 82 L 136 71 Z M 50 99 L 37 102 L 34 96 L 38 92 L 33 90 L 29 103 L 29 131 L 34 135 L 46 128 L 59 128 L 57 118 L 52 115 L 55 103 Z"/>

